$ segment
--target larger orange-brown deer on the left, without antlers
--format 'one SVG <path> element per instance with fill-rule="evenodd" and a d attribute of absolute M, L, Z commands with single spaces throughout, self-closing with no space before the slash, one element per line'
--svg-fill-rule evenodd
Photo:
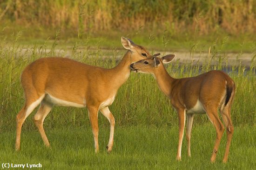
<path fill-rule="evenodd" d="M 105 69 L 86 65 L 66 58 L 49 57 L 34 61 L 21 74 L 21 84 L 26 102 L 17 114 L 16 145 L 20 150 L 21 127 L 27 116 L 40 104 L 34 122 L 46 146 L 50 146 L 43 128 L 43 121 L 54 105 L 88 107 L 89 119 L 94 135 L 95 152 L 98 144 L 98 111 L 108 118 L 110 135 L 107 151 L 114 142 L 115 118 L 108 106 L 114 102 L 116 92 L 130 75 L 130 64 L 151 57 L 142 46 L 121 37 L 128 51 L 114 68 Z"/>

